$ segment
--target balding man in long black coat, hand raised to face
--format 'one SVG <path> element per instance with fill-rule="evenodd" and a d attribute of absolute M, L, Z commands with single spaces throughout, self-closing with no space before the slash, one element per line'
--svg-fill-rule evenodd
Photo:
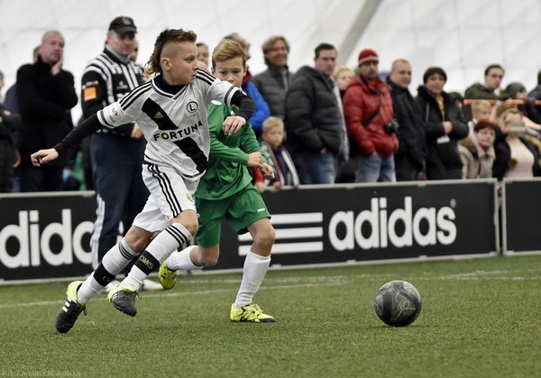
<path fill-rule="evenodd" d="M 62 189 L 69 154 L 42 168 L 32 165 L 30 155 L 58 142 L 73 127 L 70 109 L 77 105 L 78 97 L 73 75 L 62 69 L 64 44 L 60 32 L 45 32 L 37 61 L 17 71 L 17 99 L 23 117 L 18 173 L 24 192 Z"/>

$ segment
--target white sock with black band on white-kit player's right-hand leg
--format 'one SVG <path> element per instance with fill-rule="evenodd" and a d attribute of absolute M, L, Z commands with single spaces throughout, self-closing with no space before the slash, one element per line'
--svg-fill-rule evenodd
<path fill-rule="evenodd" d="M 174 250 L 179 249 L 180 245 L 187 243 L 191 237 L 188 229 L 179 223 L 173 223 L 161 231 L 133 264 L 132 270 L 120 286 L 130 286 L 133 290 L 139 291 L 142 281 L 146 280 L 153 270 L 160 268 L 160 263 L 163 263 Z M 142 263 L 142 260 L 145 263 Z"/>

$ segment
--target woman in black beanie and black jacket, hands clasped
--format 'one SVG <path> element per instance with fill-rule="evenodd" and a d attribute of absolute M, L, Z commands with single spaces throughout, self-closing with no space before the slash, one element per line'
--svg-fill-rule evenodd
<path fill-rule="evenodd" d="M 463 162 L 458 141 L 468 136 L 468 125 L 456 98 L 444 91 L 447 75 L 440 67 L 430 67 L 417 88 L 415 101 L 425 121 L 426 177 L 428 180 L 462 179 Z"/>

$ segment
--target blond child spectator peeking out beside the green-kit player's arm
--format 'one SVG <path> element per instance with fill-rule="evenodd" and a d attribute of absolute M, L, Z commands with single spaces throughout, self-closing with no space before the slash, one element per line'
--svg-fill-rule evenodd
<path fill-rule="evenodd" d="M 260 170 L 254 170 L 254 185 L 260 193 L 270 186 L 281 189 L 284 185 L 298 187 L 298 174 L 289 152 L 282 145 L 284 123 L 280 118 L 270 116 L 262 125 L 261 154 L 274 169 L 274 179 L 265 180 Z"/>

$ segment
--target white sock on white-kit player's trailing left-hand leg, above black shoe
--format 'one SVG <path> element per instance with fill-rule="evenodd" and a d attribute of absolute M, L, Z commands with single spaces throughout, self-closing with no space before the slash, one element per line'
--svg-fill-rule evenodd
<path fill-rule="evenodd" d="M 96 268 L 97 272 L 105 271 L 113 276 L 118 273 L 130 263 L 137 254 L 133 252 L 132 248 L 125 242 L 124 237 L 119 244 L 115 244 L 104 256 L 102 262 Z M 85 280 L 77 292 L 77 300 L 79 303 L 87 303 L 97 291 L 105 288 L 105 285 L 101 285 L 96 281 L 94 275 L 96 271 L 92 272 L 90 276 Z"/>

